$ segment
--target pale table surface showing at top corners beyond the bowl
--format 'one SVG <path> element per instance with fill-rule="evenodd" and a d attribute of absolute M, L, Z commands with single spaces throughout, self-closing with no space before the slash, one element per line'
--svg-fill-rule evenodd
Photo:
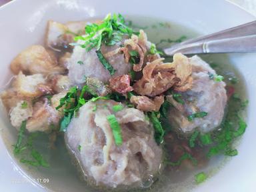
<path fill-rule="evenodd" d="M 4 5 L 9 1 L 11 0 L 0 0 L 0 6 Z M 256 0 L 227 0 L 227 1 L 230 1 L 231 3 L 239 5 L 240 7 L 247 10 L 249 13 L 255 15 L 256 17 Z"/>

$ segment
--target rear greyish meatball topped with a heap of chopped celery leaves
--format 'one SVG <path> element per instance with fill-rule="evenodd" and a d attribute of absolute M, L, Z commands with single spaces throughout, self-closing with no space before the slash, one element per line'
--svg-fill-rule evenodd
<path fill-rule="evenodd" d="M 113 46 L 106 46 L 103 44 L 101 45 L 101 53 L 104 55 L 110 51 L 114 51 L 115 49 L 119 48 L 120 45 L 121 42 Z M 113 68 L 117 70 L 112 77 L 127 74 L 131 69 L 131 65 L 125 62 L 123 53 L 106 57 L 106 59 L 113 66 Z M 82 61 L 83 64 L 79 64 L 81 62 L 77 63 L 78 61 Z M 96 77 L 104 83 L 108 83 L 109 79 L 111 78 L 109 71 L 105 69 L 101 61 L 99 61 L 95 49 L 87 52 L 85 49 L 76 46 L 69 60 L 68 69 L 69 78 L 71 81 L 73 81 L 73 83 L 78 85 L 85 83 L 86 77 Z"/>

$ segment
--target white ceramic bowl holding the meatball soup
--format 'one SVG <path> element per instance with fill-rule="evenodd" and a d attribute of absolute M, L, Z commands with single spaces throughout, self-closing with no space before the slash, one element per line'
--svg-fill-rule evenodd
<path fill-rule="evenodd" d="M 224 0 L 179 0 L 179 1 L 100 1 L 100 0 L 17 0 L 0 8 L 0 63 L 1 87 L 9 81 L 9 63 L 29 45 L 42 43 L 47 20 L 78 21 L 91 17 L 103 17 L 107 13 L 143 15 L 175 21 L 199 33 L 207 34 L 255 20 L 255 17 Z M 229 59 L 245 78 L 249 90 L 248 128 L 239 145 L 239 155 L 233 157 L 211 179 L 195 191 L 253 192 L 256 190 L 256 59 L 255 54 L 233 54 Z M 46 191 L 37 183 L 37 178 L 27 176 L 8 153 L 13 141 L 8 119 L 1 114 L 0 127 L 5 137 L 0 139 L 0 191 Z M 5 141 L 4 141 L 5 140 Z M 8 142 L 7 142 L 8 143 Z M 11 142 L 9 142 L 11 143 Z M 23 179 L 27 178 L 27 179 Z M 30 180 L 29 180 L 30 178 Z M 41 178 L 42 179 L 42 178 Z M 59 179 L 61 180 L 61 179 Z M 53 183 L 56 191 L 71 191 L 73 183 L 61 186 L 58 179 Z M 69 181 L 67 181 L 69 182 Z M 59 186 L 58 186 L 59 185 Z M 69 186 L 69 187 L 67 187 Z"/>

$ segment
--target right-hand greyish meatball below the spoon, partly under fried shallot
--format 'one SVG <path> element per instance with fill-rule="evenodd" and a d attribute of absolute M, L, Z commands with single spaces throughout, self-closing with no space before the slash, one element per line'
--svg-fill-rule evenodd
<path fill-rule="evenodd" d="M 189 91 L 177 92 L 185 102 L 183 105 L 175 101 L 172 95 L 167 96 L 174 106 L 169 112 L 169 121 L 182 133 L 191 133 L 196 128 L 207 133 L 218 127 L 223 119 L 227 103 L 225 83 L 210 78 L 216 72 L 200 57 L 193 56 L 189 58 L 189 62 L 192 65 L 192 88 Z M 207 112 L 207 116 L 195 118 L 193 121 L 187 119 L 189 115 L 200 111 Z"/>

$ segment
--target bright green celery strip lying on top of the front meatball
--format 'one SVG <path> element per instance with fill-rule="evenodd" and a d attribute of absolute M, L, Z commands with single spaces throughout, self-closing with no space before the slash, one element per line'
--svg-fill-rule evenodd
<path fill-rule="evenodd" d="M 117 118 L 115 117 L 115 115 L 109 115 L 107 116 L 107 121 L 109 121 L 109 126 L 112 129 L 113 137 L 115 139 L 115 144 L 122 145 L 123 138 L 121 135 L 121 127 L 117 121 Z"/>

